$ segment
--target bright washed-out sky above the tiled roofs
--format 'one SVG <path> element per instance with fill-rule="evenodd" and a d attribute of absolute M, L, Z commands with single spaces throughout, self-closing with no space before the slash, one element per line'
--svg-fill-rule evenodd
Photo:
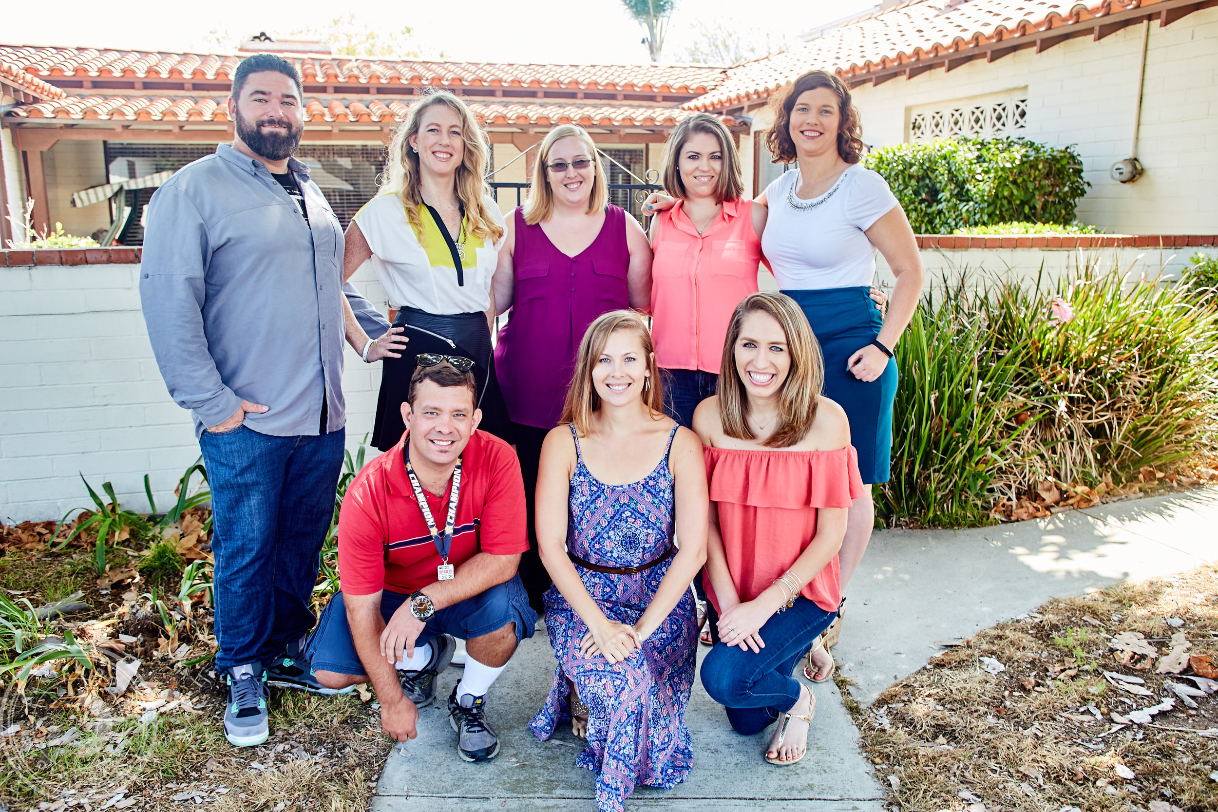
<path fill-rule="evenodd" d="M 714 21 L 750 37 L 797 41 L 799 32 L 862 11 L 876 0 L 683 0 L 670 23 L 665 61 L 676 61 L 699 21 Z M 459 0 L 448 2 L 336 4 L 334 0 L 128 0 L 102 9 L 96 0 L 60 0 L 50 6 L 13 4 L 0 21 L 0 43 L 135 50 L 208 50 L 213 29 L 245 34 L 289 33 L 347 11 L 361 21 L 400 29 L 410 26 L 419 45 L 447 58 L 479 62 L 646 62 L 642 29 L 619 0 Z M 54 24 L 48 24 L 48 9 Z"/>

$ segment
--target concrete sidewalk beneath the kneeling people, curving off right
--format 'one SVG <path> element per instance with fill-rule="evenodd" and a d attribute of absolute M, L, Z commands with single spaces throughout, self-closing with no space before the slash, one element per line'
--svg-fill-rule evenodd
<path fill-rule="evenodd" d="M 1123 578 L 1144 579 L 1218 559 L 1218 491 L 1125 502 L 1050 519 L 967 531 L 877 532 L 848 590 L 834 655 L 868 702 L 939 651 L 1055 597 Z M 699 654 L 705 653 L 702 648 Z M 419 738 L 389 757 L 371 808 L 378 812 L 575 810 L 592 812 L 594 778 L 574 767 L 570 730 L 537 741 L 527 723 L 549 689 L 554 657 L 544 627 L 526 640 L 496 684 L 488 717 L 502 739 L 495 761 L 456 754 L 443 699 L 460 678 L 441 676 L 437 706 L 419 718 Z M 797 671 L 797 674 L 799 672 Z M 792 767 L 761 760 L 770 730 L 741 737 L 694 684 L 687 721 L 695 762 L 672 790 L 639 788 L 631 810 L 881 812 L 884 793 L 857 747 L 857 730 L 837 688 L 816 685 L 809 754 Z"/>

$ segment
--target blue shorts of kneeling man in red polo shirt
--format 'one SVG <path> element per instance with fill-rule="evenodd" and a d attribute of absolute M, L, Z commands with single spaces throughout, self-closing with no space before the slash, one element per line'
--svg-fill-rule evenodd
<path fill-rule="evenodd" d="M 386 623 L 407 598 L 409 595 L 389 589 L 381 593 L 381 617 Z M 529 605 L 529 593 L 520 583 L 519 575 L 459 604 L 437 610 L 423 627 L 414 644 L 424 645 L 441 634 L 469 640 L 498 632 L 508 623 L 516 625 L 516 644 L 526 637 L 532 637 L 537 628 L 537 612 Z M 322 620 L 317 622 L 317 631 L 308 639 L 304 656 L 313 663 L 314 671 L 352 676 L 368 672 L 356 651 L 356 640 L 351 637 L 351 623 L 347 622 L 347 607 L 341 592 L 322 610 Z"/>

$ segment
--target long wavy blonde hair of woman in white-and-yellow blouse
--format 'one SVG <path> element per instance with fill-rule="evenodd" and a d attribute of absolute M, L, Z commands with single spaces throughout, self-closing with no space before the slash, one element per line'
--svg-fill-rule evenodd
<path fill-rule="evenodd" d="M 423 234 L 423 220 L 419 209 L 423 208 L 423 192 L 419 189 L 419 153 L 410 149 L 410 136 L 419 133 L 423 113 L 435 105 L 448 105 L 460 118 L 460 134 L 465 149 L 462 150 L 462 162 L 457 167 L 457 197 L 465 207 L 469 218 L 469 233 L 476 234 L 487 242 L 498 242 L 503 236 L 503 226 L 491 214 L 487 200 L 491 187 L 486 184 L 487 144 L 477 119 L 469 112 L 457 96 L 446 90 L 428 95 L 410 107 L 409 114 L 389 145 L 385 161 L 385 175 L 380 195 L 398 195 L 406 208 L 406 217 L 417 234 Z"/>

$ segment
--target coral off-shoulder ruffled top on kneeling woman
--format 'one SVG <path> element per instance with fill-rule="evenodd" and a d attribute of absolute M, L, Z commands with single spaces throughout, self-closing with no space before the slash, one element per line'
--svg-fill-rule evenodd
<path fill-rule="evenodd" d="M 703 447 L 710 500 L 741 600 L 753 600 L 786 572 L 816 536 L 821 508 L 849 508 L 864 494 L 854 446 L 828 452 Z M 704 573 L 706 597 L 719 599 Z M 842 603 L 834 555 L 800 593 L 826 611 Z"/>

